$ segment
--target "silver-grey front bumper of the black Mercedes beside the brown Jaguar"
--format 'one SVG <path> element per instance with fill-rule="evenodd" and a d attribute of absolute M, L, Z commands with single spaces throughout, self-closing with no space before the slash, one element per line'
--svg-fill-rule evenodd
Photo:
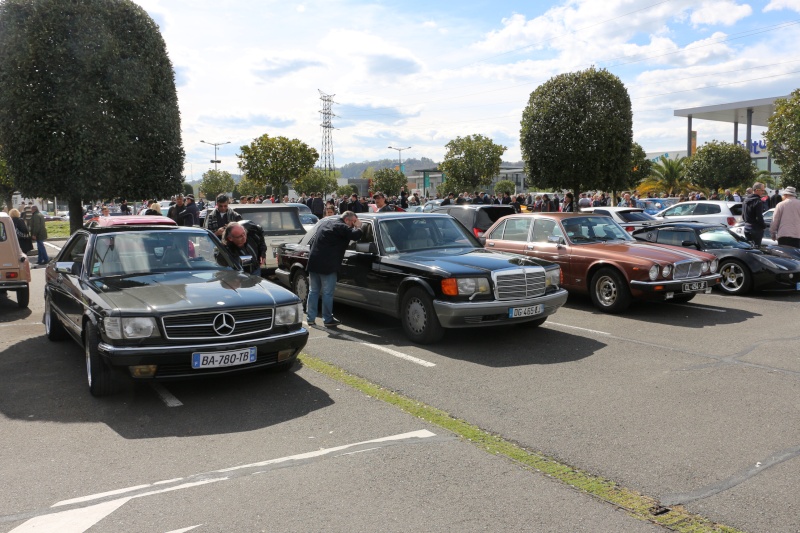
<path fill-rule="evenodd" d="M 492 300 L 489 302 L 445 302 L 435 300 L 433 307 L 442 327 L 471 328 L 475 326 L 519 324 L 539 320 L 552 315 L 566 302 L 567 291 L 558 289 L 544 296 L 519 300 Z M 508 310 L 512 307 L 529 307 L 539 304 L 544 306 L 539 314 L 517 318 L 509 318 L 508 316 Z"/>

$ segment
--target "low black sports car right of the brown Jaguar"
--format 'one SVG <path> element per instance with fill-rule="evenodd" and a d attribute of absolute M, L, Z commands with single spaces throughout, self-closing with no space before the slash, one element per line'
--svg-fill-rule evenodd
<path fill-rule="evenodd" d="M 800 291 L 800 256 L 785 246 L 755 248 L 743 237 L 719 224 L 671 222 L 633 232 L 642 241 L 691 247 L 719 259 L 722 280 L 718 287 L 728 294 L 753 289 Z"/>

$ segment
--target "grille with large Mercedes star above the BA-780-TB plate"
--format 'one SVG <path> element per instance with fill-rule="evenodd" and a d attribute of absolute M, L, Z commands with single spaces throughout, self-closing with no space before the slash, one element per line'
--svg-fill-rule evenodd
<path fill-rule="evenodd" d="M 165 316 L 162 323 L 168 339 L 237 338 L 271 330 L 272 315 L 272 308 L 219 310 Z"/>

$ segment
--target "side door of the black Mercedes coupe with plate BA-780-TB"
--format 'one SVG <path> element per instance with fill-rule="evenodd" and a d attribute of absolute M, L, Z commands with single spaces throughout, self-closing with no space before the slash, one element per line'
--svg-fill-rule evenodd
<path fill-rule="evenodd" d="M 88 243 L 89 235 L 87 233 L 76 233 L 58 256 L 57 262 L 72 262 L 76 266 L 88 264 L 84 261 Z M 54 309 L 69 321 L 69 327 L 77 333 L 80 333 L 84 310 L 80 280 L 82 275 L 84 275 L 83 267 L 80 270 L 74 269 L 71 273 L 56 272 L 53 278 L 48 280 Z"/>

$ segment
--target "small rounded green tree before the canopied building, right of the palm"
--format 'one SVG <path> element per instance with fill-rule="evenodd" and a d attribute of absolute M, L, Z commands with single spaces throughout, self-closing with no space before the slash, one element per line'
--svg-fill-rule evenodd
<path fill-rule="evenodd" d="M 712 191 L 755 180 L 756 167 L 744 146 L 711 141 L 697 149 L 685 165 L 686 179 Z"/>

